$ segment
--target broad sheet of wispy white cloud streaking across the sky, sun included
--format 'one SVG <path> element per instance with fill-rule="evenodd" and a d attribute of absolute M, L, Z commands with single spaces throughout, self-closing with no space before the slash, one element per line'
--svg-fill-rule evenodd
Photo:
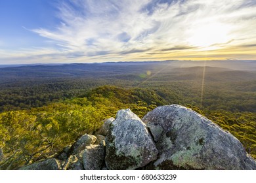
<path fill-rule="evenodd" d="M 256 44 L 254 0 L 60 1 L 57 16 L 56 27 L 32 30 L 58 47 L 47 48 L 47 56 L 83 61 L 138 60 L 150 55 L 152 59 L 224 59 L 235 57 L 231 48 L 241 46 L 238 57 L 242 58 L 242 47 Z M 42 56 L 42 52 L 34 53 Z"/>

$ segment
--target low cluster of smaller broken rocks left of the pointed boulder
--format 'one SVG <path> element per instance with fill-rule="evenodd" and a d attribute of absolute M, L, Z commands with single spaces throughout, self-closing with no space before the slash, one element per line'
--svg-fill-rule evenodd
<path fill-rule="evenodd" d="M 102 136 L 104 137 L 104 136 Z M 98 144 L 94 135 L 85 134 L 66 146 L 55 158 L 21 167 L 22 170 L 100 170 L 105 167 L 105 141 Z"/>

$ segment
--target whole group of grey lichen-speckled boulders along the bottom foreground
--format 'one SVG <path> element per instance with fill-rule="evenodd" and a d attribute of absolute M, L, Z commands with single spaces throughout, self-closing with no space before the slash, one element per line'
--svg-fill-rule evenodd
<path fill-rule="evenodd" d="M 54 158 L 20 169 L 256 169 L 241 142 L 202 115 L 165 105 L 142 120 L 119 110 Z"/>

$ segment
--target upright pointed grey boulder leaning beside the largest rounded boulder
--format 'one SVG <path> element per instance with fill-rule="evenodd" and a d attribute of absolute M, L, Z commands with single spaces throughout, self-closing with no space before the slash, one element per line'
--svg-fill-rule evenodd
<path fill-rule="evenodd" d="M 146 125 L 131 110 L 119 110 L 106 136 L 108 169 L 137 169 L 157 158 Z"/>

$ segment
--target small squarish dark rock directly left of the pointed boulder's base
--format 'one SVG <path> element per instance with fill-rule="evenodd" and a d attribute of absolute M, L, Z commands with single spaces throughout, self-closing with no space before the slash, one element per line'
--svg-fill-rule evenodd
<path fill-rule="evenodd" d="M 93 145 L 83 152 L 83 167 L 85 170 L 100 170 L 104 165 L 105 146 Z"/>

